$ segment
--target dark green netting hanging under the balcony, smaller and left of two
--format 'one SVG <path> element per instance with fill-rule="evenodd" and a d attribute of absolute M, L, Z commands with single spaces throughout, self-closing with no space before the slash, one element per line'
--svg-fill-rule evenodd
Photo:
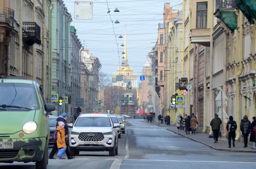
<path fill-rule="evenodd" d="M 219 14 L 221 20 L 230 31 L 234 31 L 237 28 L 237 15 L 234 11 L 219 11 Z"/>

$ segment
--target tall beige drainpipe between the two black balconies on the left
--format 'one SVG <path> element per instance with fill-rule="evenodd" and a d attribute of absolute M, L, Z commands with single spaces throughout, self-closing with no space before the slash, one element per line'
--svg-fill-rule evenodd
<path fill-rule="evenodd" d="M 19 9 L 19 76 L 22 76 L 22 46 L 23 46 L 23 41 L 22 41 L 22 18 L 23 18 L 23 1 L 20 0 L 20 9 Z"/>

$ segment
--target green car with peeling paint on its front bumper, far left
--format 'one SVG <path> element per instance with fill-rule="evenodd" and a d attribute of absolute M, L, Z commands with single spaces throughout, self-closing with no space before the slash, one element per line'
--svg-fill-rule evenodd
<path fill-rule="evenodd" d="M 36 162 L 36 169 L 46 169 L 54 105 L 45 104 L 35 81 L 0 80 L 0 162 Z"/>

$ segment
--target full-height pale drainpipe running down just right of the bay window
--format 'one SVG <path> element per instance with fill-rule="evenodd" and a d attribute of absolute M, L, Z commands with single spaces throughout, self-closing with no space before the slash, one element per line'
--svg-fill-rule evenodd
<path fill-rule="evenodd" d="M 210 41 L 210 63 L 213 63 L 213 8 L 214 8 L 214 1 L 212 1 L 212 8 L 211 9 L 211 41 Z M 213 93 L 212 93 L 212 86 L 213 86 L 213 64 L 210 64 L 210 120 L 212 120 L 212 115 L 213 115 L 213 110 L 212 110 L 212 106 L 213 106 Z M 209 135 L 212 135 L 212 126 L 210 126 L 210 132 Z"/>

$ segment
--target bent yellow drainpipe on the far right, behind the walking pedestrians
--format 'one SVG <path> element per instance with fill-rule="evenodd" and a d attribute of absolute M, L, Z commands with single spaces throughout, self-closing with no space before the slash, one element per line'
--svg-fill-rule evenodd
<path fill-rule="evenodd" d="M 244 56 L 244 27 L 243 27 L 243 20 L 244 20 L 244 14 L 242 11 L 239 11 L 239 42 L 240 42 L 240 57 L 239 57 L 239 71 L 236 73 L 236 121 L 240 121 L 240 81 L 239 81 L 239 76 L 243 72 L 243 63 L 241 62 L 243 60 Z M 238 127 L 236 129 L 236 140 L 240 138 L 241 132 L 240 128 Z"/>

